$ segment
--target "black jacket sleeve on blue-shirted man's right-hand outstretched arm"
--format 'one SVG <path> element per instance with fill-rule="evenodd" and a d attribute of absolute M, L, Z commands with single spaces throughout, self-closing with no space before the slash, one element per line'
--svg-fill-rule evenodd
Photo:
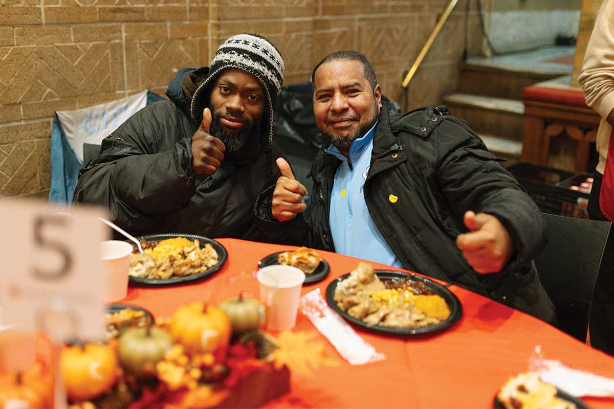
<path fill-rule="evenodd" d="M 467 210 L 499 219 L 515 247 L 513 267 L 529 262 L 546 243 L 542 213 L 518 181 L 461 123 L 446 120 L 437 128 L 437 178 L 457 216 Z"/>

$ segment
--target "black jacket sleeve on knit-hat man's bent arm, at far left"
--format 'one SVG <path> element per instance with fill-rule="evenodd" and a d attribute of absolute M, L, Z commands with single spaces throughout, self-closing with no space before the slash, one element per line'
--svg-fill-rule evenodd
<path fill-rule="evenodd" d="M 172 224 L 166 213 L 185 205 L 191 184 L 191 139 L 168 101 L 147 105 L 103 140 L 101 154 L 81 170 L 74 202 L 107 207 L 133 232 Z M 165 142 L 164 138 L 178 140 Z"/>

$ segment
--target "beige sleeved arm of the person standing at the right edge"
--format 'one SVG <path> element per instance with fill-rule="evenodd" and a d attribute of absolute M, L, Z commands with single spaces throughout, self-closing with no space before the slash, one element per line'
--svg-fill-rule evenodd
<path fill-rule="evenodd" d="M 614 125 L 614 1 L 605 0 L 586 47 L 578 82 L 586 105 Z"/>

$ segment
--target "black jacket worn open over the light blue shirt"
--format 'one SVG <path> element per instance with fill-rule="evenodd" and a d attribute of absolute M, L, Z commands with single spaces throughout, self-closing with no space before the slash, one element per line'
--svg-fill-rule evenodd
<path fill-rule="evenodd" d="M 556 321 L 532 261 L 546 241 L 540 210 L 475 132 L 448 114 L 443 105 L 404 115 L 381 109 L 363 190 L 373 222 L 406 269 Z M 268 189 L 257 203 L 263 234 L 334 251 L 330 192 L 341 161 L 324 148 L 311 169 L 311 224 L 300 215 L 286 223 L 273 220 Z M 391 194 L 398 197 L 394 203 Z M 467 231 L 462 221 L 467 210 L 496 216 L 510 232 L 515 254 L 501 272 L 476 273 L 456 247 L 456 237 Z"/>

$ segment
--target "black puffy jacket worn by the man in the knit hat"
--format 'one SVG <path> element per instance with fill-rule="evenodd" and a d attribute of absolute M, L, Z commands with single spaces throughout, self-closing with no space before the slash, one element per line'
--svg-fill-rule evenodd
<path fill-rule="evenodd" d="M 166 90 L 169 101 L 147 105 L 106 137 L 100 155 L 79 172 L 73 201 L 103 205 L 115 224 L 134 235 L 262 240 L 254 202 L 271 183 L 265 172 L 266 126 L 259 139 L 225 155 L 212 176 L 192 174 L 192 135 L 200 118 L 190 118 L 191 95 L 208 71 L 182 69 Z M 276 145 L 272 153 L 283 156 Z M 279 177 L 276 166 L 273 176 Z"/>

